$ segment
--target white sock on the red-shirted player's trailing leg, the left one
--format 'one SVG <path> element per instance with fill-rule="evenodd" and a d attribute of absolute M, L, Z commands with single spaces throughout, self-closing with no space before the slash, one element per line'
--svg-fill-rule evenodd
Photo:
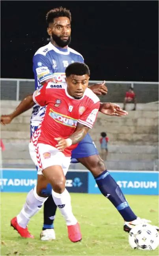
<path fill-rule="evenodd" d="M 37 195 L 36 186 L 30 190 L 21 212 L 17 215 L 17 222 L 19 226 L 26 228 L 30 218 L 41 209 L 46 200 L 47 198 L 42 198 Z"/>

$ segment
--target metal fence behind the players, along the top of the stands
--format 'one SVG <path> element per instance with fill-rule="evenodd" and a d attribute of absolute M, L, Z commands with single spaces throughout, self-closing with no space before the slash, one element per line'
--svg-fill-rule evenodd
<path fill-rule="evenodd" d="M 90 81 L 89 85 L 103 81 Z M 100 96 L 101 102 L 123 102 L 129 87 L 133 87 L 138 103 L 156 102 L 159 100 L 158 82 L 123 82 L 106 81 L 107 96 Z M 22 100 L 27 94 L 35 90 L 34 79 L 0 79 L 1 100 Z"/>

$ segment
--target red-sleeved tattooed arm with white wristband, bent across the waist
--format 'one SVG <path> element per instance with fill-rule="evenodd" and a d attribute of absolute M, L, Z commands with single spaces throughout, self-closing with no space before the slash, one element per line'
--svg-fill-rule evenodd
<path fill-rule="evenodd" d="M 89 129 L 92 129 L 95 120 L 97 119 L 97 114 L 99 110 L 100 102 L 92 104 L 86 109 L 86 111 L 81 115 L 78 120 L 77 128 L 73 134 L 71 134 L 67 139 L 55 138 L 58 141 L 56 145 L 57 149 L 64 151 L 66 147 L 79 143 L 87 134 Z"/>

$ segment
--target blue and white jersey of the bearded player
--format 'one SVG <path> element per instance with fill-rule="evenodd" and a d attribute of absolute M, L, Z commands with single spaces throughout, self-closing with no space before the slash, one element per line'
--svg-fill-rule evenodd
<path fill-rule="evenodd" d="M 59 83 L 65 82 L 65 69 L 73 62 L 84 62 L 84 58 L 77 51 L 67 47 L 62 49 L 49 44 L 39 48 L 33 57 L 33 71 L 35 90 L 41 88 L 41 83 L 56 77 Z M 45 113 L 45 107 L 34 105 L 31 125 L 38 126 Z"/>

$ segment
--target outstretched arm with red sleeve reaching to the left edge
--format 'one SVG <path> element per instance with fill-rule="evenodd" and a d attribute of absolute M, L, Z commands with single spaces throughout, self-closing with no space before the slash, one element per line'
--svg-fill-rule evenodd
<path fill-rule="evenodd" d="M 35 104 L 45 106 L 47 104 L 45 97 L 46 86 L 41 89 L 37 89 L 33 94 L 28 95 L 24 98 L 21 103 L 16 107 L 15 111 L 10 115 L 2 115 L 0 117 L 0 123 L 3 125 L 10 124 L 10 122 L 17 116 L 21 115 L 28 109 L 32 108 Z"/>

